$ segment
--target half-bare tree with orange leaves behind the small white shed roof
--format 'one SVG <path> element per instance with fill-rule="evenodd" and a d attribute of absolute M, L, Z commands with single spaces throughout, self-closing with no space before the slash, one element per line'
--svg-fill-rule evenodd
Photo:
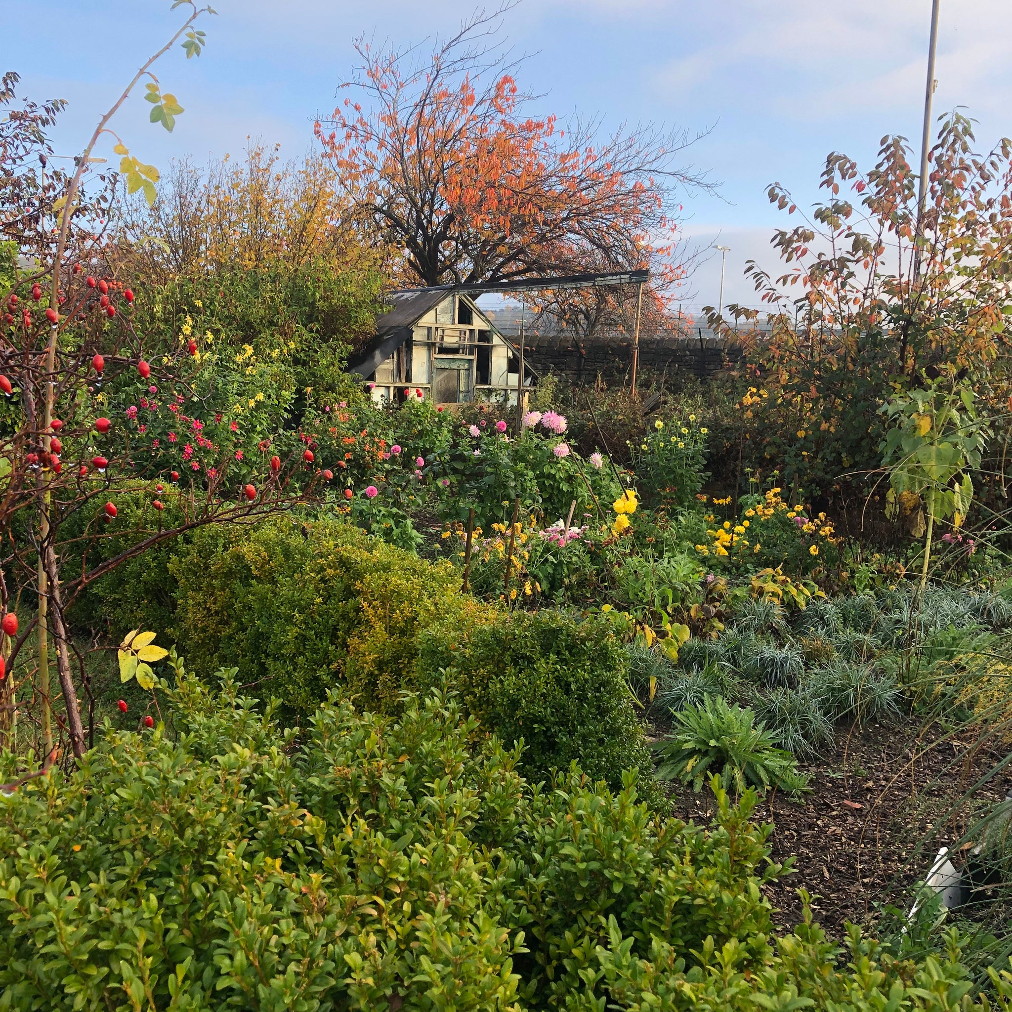
<path fill-rule="evenodd" d="M 563 130 L 526 116 L 479 14 L 437 45 L 427 63 L 356 45 L 362 92 L 318 122 L 317 136 L 355 204 L 416 283 L 500 281 L 646 266 L 674 243 L 678 187 L 711 187 L 677 167 L 691 140 L 652 126 L 599 138 L 599 121 Z M 484 83 L 488 81 L 488 83 Z"/>

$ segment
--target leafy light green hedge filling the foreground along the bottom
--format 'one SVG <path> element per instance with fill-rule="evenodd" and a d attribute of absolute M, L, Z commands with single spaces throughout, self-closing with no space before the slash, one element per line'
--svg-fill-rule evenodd
<path fill-rule="evenodd" d="M 855 929 L 847 965 L 810 923 L 775 940 L 751 793 L 703 831 L 631 777 L 532 788 L 445 691 L 300 735 L 234 674 L 177 665 L 167 726 L 0 800 L 0 1009 L 983 1007 L 955 941 L 899 962 Z"/>

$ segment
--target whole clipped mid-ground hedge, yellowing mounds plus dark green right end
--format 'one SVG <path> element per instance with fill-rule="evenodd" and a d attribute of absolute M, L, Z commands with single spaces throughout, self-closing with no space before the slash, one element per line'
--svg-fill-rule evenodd
<path fill-rule="evenodd" d="M 397 714 L 404 692 L 439 684 L 445 670 L 483 732 L 523 739 L 531 779 L 575 760 L 618 789 L 636 769 L 663 804 L 624 655 L 596 620 L 498 611 L 461 594 L 448 564 L 330 521 L 205 528 L 169 568 L 181 652 L 197 669 L 236 665 L 285 718 L 305 721 L 338 686 Z"/>

